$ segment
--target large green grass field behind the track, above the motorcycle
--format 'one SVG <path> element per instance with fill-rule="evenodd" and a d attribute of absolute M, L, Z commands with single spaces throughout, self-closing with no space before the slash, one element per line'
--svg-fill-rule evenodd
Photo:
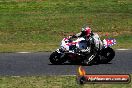
<path fill-rule="evenodd" d="M 132 1 L 1 0 L 0 52 L 52 51 L 84 24 L 95 32 L 132 33 Z M 131 35 L 123 37 L 127 43 L 120 36 L 115 48 L 129 48 L 124 45 L 131 45 Z"/>

